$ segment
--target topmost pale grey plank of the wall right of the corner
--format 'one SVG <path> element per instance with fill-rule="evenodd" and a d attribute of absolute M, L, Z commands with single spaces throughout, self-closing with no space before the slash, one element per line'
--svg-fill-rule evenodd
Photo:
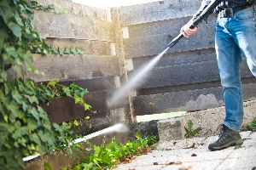
<path fill-rule="evenodd" d="M 192 16 L 201 0 L 164 0 L 120 8 L 124 26 Z"/>

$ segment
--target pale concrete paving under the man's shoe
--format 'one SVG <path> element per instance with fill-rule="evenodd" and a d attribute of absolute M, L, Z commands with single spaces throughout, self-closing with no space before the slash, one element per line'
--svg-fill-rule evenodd
<path fill-rule="evenodd" d="M 163 142 L 148 155 L 137 156 L 115 170 L 256 170 L 256 133 L 241 133 L 241 147 L 210 151 L 208 144 L 218 136 Z"/>

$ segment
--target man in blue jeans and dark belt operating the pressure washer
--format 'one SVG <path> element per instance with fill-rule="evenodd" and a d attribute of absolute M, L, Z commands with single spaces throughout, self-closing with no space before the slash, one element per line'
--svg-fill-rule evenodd
<path fill-rule="evenodd" d="M 211 3 L 203 0 L 201 11 Z M 241 91 L 241 56 L 256 77 L 256 2 L 253 0 L 222 1 L 214 12 L 218 14 L 215 32 L 215 48 L 221 85 L 224 88 L 225 118 L 222 131 L 216 142 L 209 144 L 209 150 L 223 150 L 242 144 L 239 134 L 243 121 L 243 100 Z M 184 37 L 190 37 L 198 28 L 181 28 Z"/>

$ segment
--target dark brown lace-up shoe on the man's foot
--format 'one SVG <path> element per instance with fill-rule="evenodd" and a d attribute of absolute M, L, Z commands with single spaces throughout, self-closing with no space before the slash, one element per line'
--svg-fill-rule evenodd
<path fill-rule="evenodd" d="M 243 140 L 238 132 L 231 130 L 223 125 L 222 131 L 219 134 L 219 138 L 216 142 L 209 144 L 209 150 L 223 150 L 230 146 L 241 145 Z"/>

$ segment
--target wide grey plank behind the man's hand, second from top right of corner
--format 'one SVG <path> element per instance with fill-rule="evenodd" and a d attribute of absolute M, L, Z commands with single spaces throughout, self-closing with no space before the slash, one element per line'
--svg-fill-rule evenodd
<path fill-rule="evenodd" d="M 124 40 L 126 58 L 160 54 L 169 42 L 179 34 L 180 28 L 189 18 L 163 20 L 129 27 L 130 38 Z M 181 39 L 168 53 L 189 51 L 201 48 L 214 48 L 214 17 L 209 24 L 199 26 L 198 33 Z M 211 23 L 211 24 L 210 24 Z"/>

